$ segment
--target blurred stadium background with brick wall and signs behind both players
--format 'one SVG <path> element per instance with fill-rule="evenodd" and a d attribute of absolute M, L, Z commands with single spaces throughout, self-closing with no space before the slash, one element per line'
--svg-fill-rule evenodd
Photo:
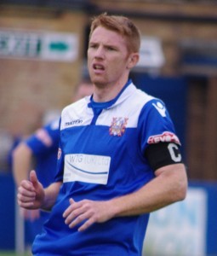
<path fill-rule="evenodd" d="M 140 27 L 142 57 L 131 77 L 140 89 L 166 102 L 190 179 L 189 195 L 172 208 L 170 221 L 168 208 L 153 213 L 149 230 L 160 237 L 158 241 L 148 233 L 146 255 L 217 255 L 214 0 L 1 1 L 0 255 L 17 247 L 9 149 L 14 138 L 37 128 L 43 113 L 71 102 L 73 90 L 87 72 L 90 19 L 105 11 L 128 15 Z M 170 242 L 163 241 L 167 236 Z"/>

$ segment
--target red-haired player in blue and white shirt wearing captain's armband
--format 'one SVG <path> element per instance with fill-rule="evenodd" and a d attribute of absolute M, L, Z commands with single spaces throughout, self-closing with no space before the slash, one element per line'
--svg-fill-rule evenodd
<path fill-rule="evenodd" d="M 89 36 L 93 96 L 64 108 L 55 183 L 31 171 L 20 207 L 51 210 L 35 256 L 140 256 L 149 212 L 186 197 L 180 141 L 164 103 L 128 79 L 140 32 L 123 16 L 99 15 Z"/>

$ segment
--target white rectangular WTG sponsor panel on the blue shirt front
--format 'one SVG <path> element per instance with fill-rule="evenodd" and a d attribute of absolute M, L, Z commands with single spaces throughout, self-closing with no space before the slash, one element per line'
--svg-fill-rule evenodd
<path fill-rule="evenodd" d="M 110 169 L 110 156 L 94 154 L 66 154 L 63 182 L 106 184 Z"/>

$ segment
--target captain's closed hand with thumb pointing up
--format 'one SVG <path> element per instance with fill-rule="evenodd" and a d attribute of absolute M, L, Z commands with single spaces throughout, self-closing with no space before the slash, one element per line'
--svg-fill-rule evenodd
<path fill-rule="evenodd" d="M 30 180 L 21 181 L 18 188 L 18 205 L 26 209 L 39 209 L 43 205 L 43 200 L 43 185 L 37 180 L 36 172 L 31 171 Z"/>

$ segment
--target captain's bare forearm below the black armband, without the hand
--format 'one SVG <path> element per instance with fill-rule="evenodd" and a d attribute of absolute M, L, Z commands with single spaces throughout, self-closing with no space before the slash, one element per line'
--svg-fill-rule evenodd
<path fill-rule="evenodd" d="M 171 168 L 170 168 L 171 167 Z M 163 169 L 163 168 L 162 168 Z M 186 197 L 187 179 L 182 164 L 167 167 L 138 191 L 109 202 L 114 216 L 132 216 L 156 211 Z"/>

